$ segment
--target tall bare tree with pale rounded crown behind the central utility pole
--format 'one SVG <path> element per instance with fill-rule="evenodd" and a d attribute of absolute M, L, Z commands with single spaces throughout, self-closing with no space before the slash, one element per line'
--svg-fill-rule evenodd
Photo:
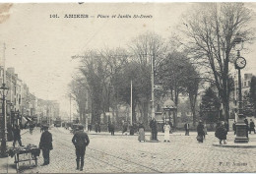
<path fill-rule="evenodd" d="M 138 104 L 142 108 L 142 115 L 145 124 L 148 124 L 148 113 L 149 105 L 151 104 L 151 69 L 152 62 L 154 67 L 154 73 L 156 75 L 157 69 L 160 65 L 161 60 L 165 56 L 166 44 L 159 34 L 154 32 L 147 32 L 135 37 L 130 47 L 130 54 L 132 56 L 132 61 L 136 63 L 136 70 L 138 74 L 138 86 L 139 100 Z M 155 82 L 157 84 L 158 82 Z M 136 88 L 135 88 L 136 91 Z"/>

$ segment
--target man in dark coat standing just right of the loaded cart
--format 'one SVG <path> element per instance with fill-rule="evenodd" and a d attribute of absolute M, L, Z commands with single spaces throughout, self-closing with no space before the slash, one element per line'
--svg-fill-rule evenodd
<path fill-rule="evenodd" d="M 44 162 L 42 165 L 48 165 L 50 163 L 50 150 L 52 147 L 52 135 L 48 131 L 49 127 L 44 126 L 44 132 L 41 134 L 41 139 L 39 143 L 39 148 L 42 149 L 42 156 Z"/>

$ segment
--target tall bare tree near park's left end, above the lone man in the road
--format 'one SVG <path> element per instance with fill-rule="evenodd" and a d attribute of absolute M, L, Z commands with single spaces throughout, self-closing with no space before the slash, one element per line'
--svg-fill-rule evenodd
<path fill-rule="evenodd" d="M 107 62 L 95 50 L 88 51 L 81 59 L 80 71 L 86 78 L 90 98 L 92 100 L 92 123 L 100 122 L 100 115 L 105 108 L 109 109 L 106 83 L 109 81 L 107 73 Z M 107 104 L 107 105 L 106 105 Z"/>

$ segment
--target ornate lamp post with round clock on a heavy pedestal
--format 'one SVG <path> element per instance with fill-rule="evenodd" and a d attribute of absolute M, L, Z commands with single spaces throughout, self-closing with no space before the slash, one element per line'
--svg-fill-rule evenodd
<path fill-rule="evenodd" d="M 237 51 L 237 58 L 234 62 L 234 68 L 238 70 L 238 118 L 234 143 L 248 143 L 247 125 L 244 123 L 244 115 L 242 113 L 242 86 L 240 72 L 240 70 L 246 65 L 246 60 L 240 56 L 240 51 L 243 49 L 243 38 L 239 34 L 236 34 L 233 42 L 234 49 Z"/>

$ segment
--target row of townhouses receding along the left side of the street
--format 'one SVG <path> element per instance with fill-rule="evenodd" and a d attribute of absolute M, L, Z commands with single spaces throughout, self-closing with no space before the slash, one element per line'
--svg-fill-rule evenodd
<path fill-rule="evenodd" d="M 3 87 L 3 82 L 4 70 L 0 67 L 0 87 Z M 23 127 L 30 124 L 52 124 L 59 117 L 59 103 L 37 98 L 30 91 L 30 87 L 15 73 L 14 68 L 7 68 L 5 71 L 5 87 L 8 89 L 5 91 L 1 89 L 0 104 L 3 105 L 3 94 L 5 94 L 8 128 L 14 124 Z M 1 128 L 4 127 L 3 115 L 3 107 L 0 107 Z"/>

